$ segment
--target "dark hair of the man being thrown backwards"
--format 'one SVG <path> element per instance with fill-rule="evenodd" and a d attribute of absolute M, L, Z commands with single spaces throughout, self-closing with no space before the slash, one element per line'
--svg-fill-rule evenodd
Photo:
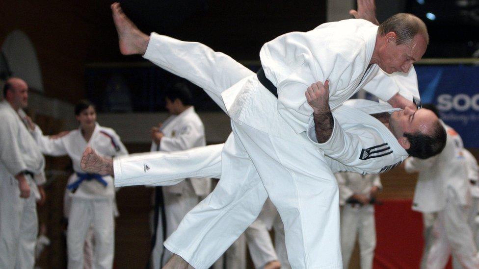
<path fill-rule="evenodd" d="M 441 153 L 446 146 L 446 130 L 441 122 L 436 121 L 433 125 L 432 134 L 426 135 L 422 133 L 404 133 L 405 138 L 409 141 L 409 149 L 407 153 L 413 157 L 427 159 Z"/>

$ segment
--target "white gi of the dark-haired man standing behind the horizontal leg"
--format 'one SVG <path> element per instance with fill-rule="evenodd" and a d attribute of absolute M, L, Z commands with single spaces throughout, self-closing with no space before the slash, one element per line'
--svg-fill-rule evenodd
<path fill-rule="evenodd" d="M 179 115 L 172 115 L 161 127 L 161 132 L 165 135 L 160 145 L 152 143 L 151 150 L 156 151 L 176 151 L 185 150 L 192 147 L 206 146 L 205 128 L 194 107 L 191 106 Z M 162 188 L 167 238 L 173 233 L 186 213 L 197 205 L 202 198 L 211 192 L 210 178 L 188 178 L 176 185 L 165 186 Z M 157 225 L 157 239 L 152 251 L 153 268 L 161 268 L 172 253 L 167 251 L 163 253 L 163 237 L 161 236 L 163 227 Z M 160 261 L 162 259 L 162 261 Z"/>

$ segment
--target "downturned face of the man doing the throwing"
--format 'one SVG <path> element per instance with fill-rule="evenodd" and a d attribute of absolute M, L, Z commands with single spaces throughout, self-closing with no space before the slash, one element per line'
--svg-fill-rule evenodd
<path fill-rule="evenodd" d="M 396 33 L 385 36 L 385 46 L 379 51 L 379 67 L 386 73 L 407 73 L 414 62 L 419 61 L 426 52 L 426 40 L 416 35 L 411 42 L 396 45 Z"/>

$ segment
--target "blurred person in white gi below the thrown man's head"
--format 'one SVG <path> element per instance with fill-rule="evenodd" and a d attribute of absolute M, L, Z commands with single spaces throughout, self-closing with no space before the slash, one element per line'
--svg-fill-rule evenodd
<path fill-rule="evenodd" d="M 426 160 L 408 158 L 404 166 L 408 172 L 419 171 L 413 210 L 437 213 L 426 268 L 444 268 L 451 254 L 463 268 L 479 268 L 477 248 L 466 216 L 470 190 L 462 154 L 463 143 L 454 129 L 444 126 L 447 130 L 444 150 Z"/>

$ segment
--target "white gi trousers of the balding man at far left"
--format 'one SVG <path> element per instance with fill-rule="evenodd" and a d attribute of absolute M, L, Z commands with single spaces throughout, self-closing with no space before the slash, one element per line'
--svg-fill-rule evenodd
<path fill-rule="evenodd" d="M 38 234 L 35 196 L 30 192 L 27 199 L 21 198 L 12 176 L 0 180 L 0 268 L 33 268 Z"/>

